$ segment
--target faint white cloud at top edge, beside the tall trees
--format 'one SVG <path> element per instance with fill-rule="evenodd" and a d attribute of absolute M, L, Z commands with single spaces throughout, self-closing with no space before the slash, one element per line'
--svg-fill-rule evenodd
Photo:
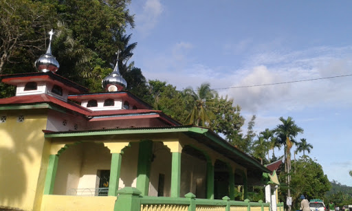
<path fill-rule="evenodd" d="M 142 12 L 138 12 L 135 16 L 136 30 L 142 36 L 148 35 L 157 25 L 163 11 L 163 5 L 159 0 L 146 0 Z"/>

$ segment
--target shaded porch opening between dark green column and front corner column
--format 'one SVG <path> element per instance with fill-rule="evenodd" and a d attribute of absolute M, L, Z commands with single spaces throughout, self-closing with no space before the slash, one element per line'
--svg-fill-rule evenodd
<path fill-rule="evenodd" d="M 149 196 L 170 197 L 172 155 L 162 142 L 153 142 Z"/>

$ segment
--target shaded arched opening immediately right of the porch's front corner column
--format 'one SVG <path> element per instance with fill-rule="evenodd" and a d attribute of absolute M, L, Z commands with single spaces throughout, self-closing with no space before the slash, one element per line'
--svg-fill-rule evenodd
<path fill-rule="evenodd" d="M 181 153 L 181 196 L 192 192 L 206 199 L 207 159 L 203 152 L 184 146 Z"/>

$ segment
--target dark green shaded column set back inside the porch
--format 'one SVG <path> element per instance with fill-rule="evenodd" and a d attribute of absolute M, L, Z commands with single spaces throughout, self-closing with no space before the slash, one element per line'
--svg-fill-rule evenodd
<path fill-rule="evenodd" d="M 140 142 L 137 164 L 137 189 L 142 192 L 142 196 L 148 195 L 149 175 L 151 173 L 151 158 L 153 142 L 150 140 Z"/>

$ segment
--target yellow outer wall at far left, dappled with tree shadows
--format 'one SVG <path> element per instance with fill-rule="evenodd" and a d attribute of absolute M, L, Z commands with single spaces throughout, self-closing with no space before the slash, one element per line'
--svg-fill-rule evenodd
<path fill-rule="evenodd" d="M 6 122 L 0 123 L 0 206 L 33 210 L 35 198 L 41 199 L 47 168 L 47 159 L 42 160 L 47 117 L 33 110 L 0 111 L 2 115 Z M 17 122 L 18 115 L 25 120 Z"/>

